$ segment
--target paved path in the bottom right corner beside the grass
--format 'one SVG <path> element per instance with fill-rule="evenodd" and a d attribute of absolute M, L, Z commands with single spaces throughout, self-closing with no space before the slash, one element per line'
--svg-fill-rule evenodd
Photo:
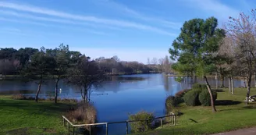
<path fill-rule="evenodd" d="M 256 127 L 252 127 L 249 129 L 241 129 L 241 130 L 236 130 L 236 131 L 231 131 L 226 133 L 217 133 L 213 135 L 256 135 Z"/>

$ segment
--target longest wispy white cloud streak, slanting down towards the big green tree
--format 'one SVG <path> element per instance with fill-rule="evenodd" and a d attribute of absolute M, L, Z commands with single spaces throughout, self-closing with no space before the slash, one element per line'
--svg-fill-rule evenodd
<path fill-rule="evenodd" d="M 108 24 L 116 27 L 130 27 L 130 28 L 136 28 L 140 30 L 150 30 L 152 32 L 156 32 L 158 34 L 165 34 L 169 36 L 176 36 L 176 34 L 169 33 L 168 31 L 159 29 L 158 27 L 151 27 L 148 25 L 140 24 L 140 23 L 133 23 L 129 21 L 124 20 L 110 20 L 110 19 L 102 19 L 98 18 L 96 16 L 81 16 L 76 14 L 71 14 L 68 12 L 60 12 L 53 9 L 44 9 L 41 7 L 37 7 L 34 5 L 22 5 L 22 4 L 16 4 L 11 2 L 0 2 L 0 7 L 2 8 L 8 8 L 8 9 L 15 9 L 18 11 L 24 11 L 24 12 L 34 12 L 39 14 L 44 14 L 48 16 L 57 16 L 60 18 L 66 18 L 69 20 L 82 20 L 85 22 L 94 22 L 94 23 L 103 23 Z"/>

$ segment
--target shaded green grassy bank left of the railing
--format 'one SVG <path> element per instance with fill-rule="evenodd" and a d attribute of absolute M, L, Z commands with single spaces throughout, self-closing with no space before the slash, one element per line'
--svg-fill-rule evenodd
<path fill-rule="evenodd" d="M 0 134 L 67 134 L 61 115 L 70 106 L 0 96 Z"/>

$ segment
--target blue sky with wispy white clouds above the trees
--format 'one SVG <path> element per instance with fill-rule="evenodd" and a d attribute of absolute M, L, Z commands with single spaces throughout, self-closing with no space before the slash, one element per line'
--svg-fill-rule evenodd
<path fill-rule="evenodd" d="M 0 48 L 69 44 L 95 59 L 147 62 L 169 55 L 186 20 L 250 12 L 254 0 L 0 0 Z"/>

